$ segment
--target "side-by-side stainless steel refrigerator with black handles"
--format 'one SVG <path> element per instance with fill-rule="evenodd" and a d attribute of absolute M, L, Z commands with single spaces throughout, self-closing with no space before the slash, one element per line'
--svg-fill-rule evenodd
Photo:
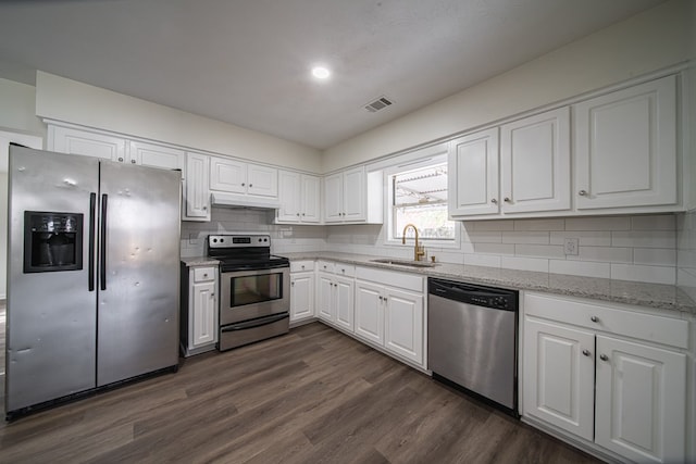
<path fill-rule="evenodd" d="M 10 148 L 9 419 L 178 365 L 181 172 Z"/>

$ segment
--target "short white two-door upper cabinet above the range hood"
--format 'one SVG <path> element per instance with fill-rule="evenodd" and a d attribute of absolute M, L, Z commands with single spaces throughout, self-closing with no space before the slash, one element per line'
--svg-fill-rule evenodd
<path fill-rule="evenodd" d="M 274 167 L 211 156 L 210 189 L 229 193 L 277 198 L 278 171 Z"/>

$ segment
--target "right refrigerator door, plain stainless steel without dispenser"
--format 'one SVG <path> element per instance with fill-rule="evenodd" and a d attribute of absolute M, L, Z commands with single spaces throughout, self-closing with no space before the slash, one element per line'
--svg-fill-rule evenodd
<path fill-rule="evenodd" d="M 178 363 L 181 172 L 101 163 L 97 386 Z"/>

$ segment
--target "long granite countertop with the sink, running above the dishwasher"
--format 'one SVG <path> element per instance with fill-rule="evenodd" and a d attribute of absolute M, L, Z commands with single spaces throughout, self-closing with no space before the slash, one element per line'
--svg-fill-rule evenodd
<path fill-rule="evenodd" d="M 437 263 L 435 267 L 414 268 L 400 266 L 398 264 L 374 263 L 371 261 L 381 256 L 327 251 L 282 254 L 290 259 L 290 261 L 325 259 L 348 264 L 421 274 L 427 277 L 467 280 L 517 290 L 535 290 L 571 297 L 592 298 L 595 300 L 635 304 L 682 313 L 675 315 L 696 315 L 696 302 L 673 285 L 612 280 L 449 263 Z"/>

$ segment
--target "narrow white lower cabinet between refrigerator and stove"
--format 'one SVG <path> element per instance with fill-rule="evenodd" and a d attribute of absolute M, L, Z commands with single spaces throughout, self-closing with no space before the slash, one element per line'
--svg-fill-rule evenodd
<path fill-rule="evenodd" d="M 181 339 L 189 356 L 214 350 L 217 342 L 217 269 L 184 265 L 183 273 Z"/>

